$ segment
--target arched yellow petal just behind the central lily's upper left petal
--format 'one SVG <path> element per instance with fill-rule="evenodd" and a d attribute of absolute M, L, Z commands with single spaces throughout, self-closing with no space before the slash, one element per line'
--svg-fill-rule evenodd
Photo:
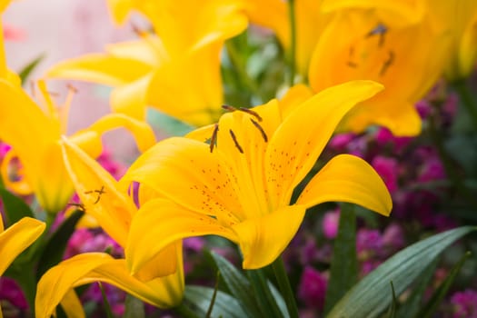
<path fill-rule="evenodd" d="M 99 136 L 115 128 L 125 128 L 133 134 L 141 152 L 155 144 L 155 135 L 151 126 L 125 114 L 106 114 L 86 128 L 86 131 L 93 131 Z"/>

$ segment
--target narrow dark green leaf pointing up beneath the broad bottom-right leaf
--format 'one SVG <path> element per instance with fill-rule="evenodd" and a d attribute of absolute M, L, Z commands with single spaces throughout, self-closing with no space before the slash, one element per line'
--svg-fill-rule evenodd
<path fill-rule="evenodd" d="M 422 274 L 420 275 L 421 278 L 415 284 L 411 296 L 409 296 L 409 298 L 399 307 L 396 313 L 396 317 L 409 318 L 413 317 L 416 313 L 419 312 L 422 298 L 427 289 L 427 286 L 429 285 L 429 283 L 431 283 L 436 267 L 437 262 L 434 261 L 430 263 L 429 266 L 424 269 L 424 271 L 422 271 Z"/>

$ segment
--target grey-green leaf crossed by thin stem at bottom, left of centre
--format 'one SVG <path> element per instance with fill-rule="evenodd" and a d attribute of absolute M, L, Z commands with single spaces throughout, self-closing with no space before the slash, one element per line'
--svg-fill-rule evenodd
<path fill-rule="evenodd" d="M 198 316 L 204 317 L 209 309 L 213 294 L 213 288 L 188 285 L 185 286 L 184 302 L 194 304 L 194 312 Z M 218 291 L 215 296 L 215 303 L 211 316 L 230 318 L 249 317 L 243 312 L 242 305 L 233 296 L 221 291 Z"/>

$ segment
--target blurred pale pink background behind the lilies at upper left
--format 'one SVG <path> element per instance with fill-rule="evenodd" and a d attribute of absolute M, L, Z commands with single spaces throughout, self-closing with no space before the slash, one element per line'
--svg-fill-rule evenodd
<path fill-rule="evenodd" d="M 134 37 L 130 25 L 113 25 L 105 0 L 13 1 L 5 11 L 3 21 L 5 25 L 25 32 L 24 39 L 5 42 L 10 68 L 19 72 L 37 56 L 45 54 L 30 79 L 41 77 L 48 67 L 65 58 L 102 52 L 105 44 Z M 50 81 L 49 89 L 60 93 L 56 98 L 60 104 L 65 99 L 67 83 L 78 89 L 71 108 L 69 133 L 109 112 L 109 89 L 94 84 Z M 106 134 L 104 143 L 124 163 L 131 162 L 137 154 L 133 138 L 123 129 Z"/>

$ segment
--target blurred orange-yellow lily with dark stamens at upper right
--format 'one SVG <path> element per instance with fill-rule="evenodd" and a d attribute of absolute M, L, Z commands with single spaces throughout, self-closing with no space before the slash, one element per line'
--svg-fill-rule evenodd
<path fill-rule="evenodd" d="M 386 90 L 354 108 L 341 130 L 362 132 L 381 124 L 393 134 L 421 132 L 414 108 L 441 75 L 446 38 L 428 16 L 402 27 L 382 20 L 379 11 L 343 10 L 333 15 L 313 52 L 309 81 L 313 91 L 354 79 L 384 84 Z"/>

